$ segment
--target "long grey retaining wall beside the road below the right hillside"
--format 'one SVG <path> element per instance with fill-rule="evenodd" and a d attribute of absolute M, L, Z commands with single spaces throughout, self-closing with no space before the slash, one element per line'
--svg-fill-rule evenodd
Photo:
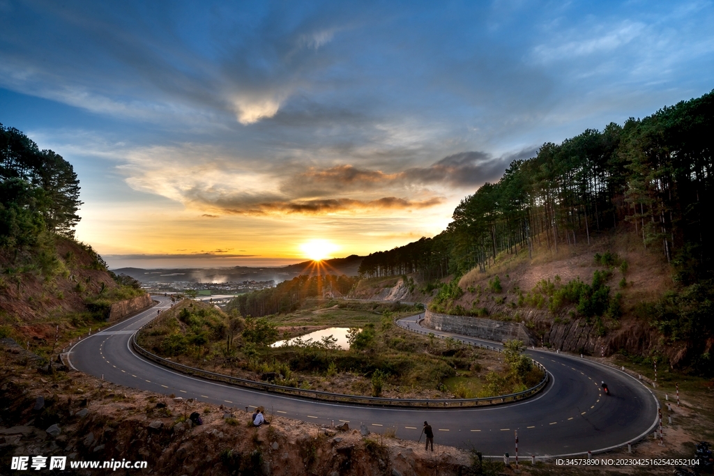
<path fill-rule="evenodd" d="M 535 342 L 521 323 L 504 323 L 501 320 L 471 318 L 464 315 L 447 315 L 426 310 L 423 325 L 444 332 L 470 335 L 481 339 L 506 342 L 506 340 L 523 340 L 526 345 Z"/>

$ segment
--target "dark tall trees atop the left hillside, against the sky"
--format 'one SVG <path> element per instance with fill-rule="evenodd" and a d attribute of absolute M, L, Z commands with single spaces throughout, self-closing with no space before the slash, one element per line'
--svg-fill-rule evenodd
<path fill-rule="evenodd" d="M 73 237 L 81 204 L 69 162 L 0 124 L 0 246 L 33 245 L 45 230 Z"/>

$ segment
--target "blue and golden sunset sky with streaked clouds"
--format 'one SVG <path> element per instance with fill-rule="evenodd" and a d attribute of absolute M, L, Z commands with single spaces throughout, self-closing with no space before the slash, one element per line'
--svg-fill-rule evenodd
<path fill-rule="evenodd" d="M 435 236 L 511 161 L 714 88 L 710 1 L 0 0 L 0 123 L 111 268 Z"/>

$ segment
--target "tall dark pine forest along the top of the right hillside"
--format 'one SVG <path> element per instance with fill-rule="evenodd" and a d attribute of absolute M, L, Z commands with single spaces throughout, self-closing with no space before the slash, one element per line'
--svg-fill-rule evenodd
<path fill-rule="evenodd" d="M 513 161 L 497 183 L 463 198 L 446 231 L 363 260 L 363 276 L 436 278 L 486 271 L 499 253 L 590 242 L 628 224 L 687 285 L 710 277 L 714 91 L 602 131 L 585 130 Z M 446 273 L 443 270 L 446 268 Z"/>

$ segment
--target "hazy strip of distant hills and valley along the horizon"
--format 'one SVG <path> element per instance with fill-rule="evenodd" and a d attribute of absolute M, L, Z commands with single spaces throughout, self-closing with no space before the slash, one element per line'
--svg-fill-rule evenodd
<path fill-rule="evenodd" d="M 347 258 L 333 258 L 323 260 L 316 265 L 314 261 L 303 261 L 294 265 L 278 268 L 235 266 L 233 268 L 119 268 L 114 269 L 116 274 L 126 274 L 141 281 L 141 283 L 227 283 L 233 281 L 268 281 L 280 283 L 290 280 L 301 274 L 333 274 L 357 275 L 363 256 L 350 255 Z"/>

